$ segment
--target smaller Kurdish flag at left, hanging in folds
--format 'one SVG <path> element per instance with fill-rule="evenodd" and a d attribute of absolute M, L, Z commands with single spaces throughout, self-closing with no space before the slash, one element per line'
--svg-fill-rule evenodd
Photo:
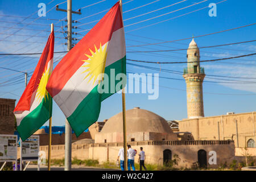
<path fill-rule="evenodd" d="M 14 109 L 20 138 L 26 140 L 52 116 L 52 97 L 46 90 L 53 67 L 54 32 L 36 65 L 30 82 Z"/>

